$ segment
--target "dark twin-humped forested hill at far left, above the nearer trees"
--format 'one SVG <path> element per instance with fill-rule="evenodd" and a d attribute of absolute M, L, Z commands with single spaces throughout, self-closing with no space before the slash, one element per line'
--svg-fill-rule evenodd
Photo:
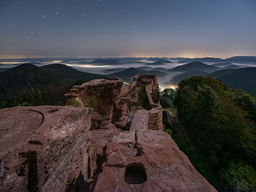
<path fill-rule="evenodd" d="M 25 63 L 0 72 L 0 100 L 10 96 L 20 96 L 31 88 L 52 85 L 71 85 L 76 80 L 91 81 L 103 78 L 102 75 L 80 72 L 63 64 L 50 64 L 43 67 Z"/>

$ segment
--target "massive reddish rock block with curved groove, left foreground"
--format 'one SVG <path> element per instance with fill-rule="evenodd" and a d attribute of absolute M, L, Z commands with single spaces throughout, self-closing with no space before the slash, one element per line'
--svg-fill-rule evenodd
<path fill-rule="evenodd" d="M 86 133 L 91 108 L 0 109 L 0 191 L 65 191 L 71 176 L 87 173 Z"/>

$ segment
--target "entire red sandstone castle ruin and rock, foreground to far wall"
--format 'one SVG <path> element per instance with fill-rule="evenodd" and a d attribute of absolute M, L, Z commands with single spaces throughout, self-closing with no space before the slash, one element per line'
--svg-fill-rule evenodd
<path fill-rule="evenodd" d="M 136 84 L 151 110 L 124 96 Z M 0 109 L 0 158 L 10 151 L 0 191 L 216 192 L 162 131 L 157 89 L 156 75 L 136 75 L 124 88 L 118 78 L 98 79 L 65 95 L 76 107 Z"/>

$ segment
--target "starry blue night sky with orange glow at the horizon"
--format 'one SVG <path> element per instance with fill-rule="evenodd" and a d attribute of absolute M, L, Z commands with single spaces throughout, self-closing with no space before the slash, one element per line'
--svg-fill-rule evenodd
<path fill-rule="evenodd" d="M 256 56 L 256 0 L 0 0 L 0 58 Z"/>

